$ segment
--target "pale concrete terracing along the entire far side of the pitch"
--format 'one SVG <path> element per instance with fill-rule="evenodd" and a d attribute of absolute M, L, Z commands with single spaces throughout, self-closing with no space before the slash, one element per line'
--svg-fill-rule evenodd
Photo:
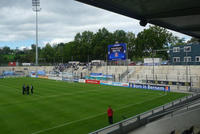
<path fill-rule="evenodd" d="M 0 67 L 0 74 L 4 70 L 23 71 L 29 74 L 30 71 L 45 70 L 47 73 L 53 70 L 53 66 L 20 66 L 20 67 Z M 176 81 L 176 82 L 191 82 L 193 88 L 200 89 L 200 66 L 94 66 L 91 71 L 87 69 L 75 71 L 77 75 L 81 72 L 83 76 L 89 73 L 103 73 L 108 75 L 115 75 L 118 80 L 121 74 L 127 72 L 126 79 L 122 81 L 142 81 L 142 80 L 161 80 L 161 81 Z M 70 71 L 70 70 L 69 70 Z M 186 90 L 190 87 L 186 86 L 171 86 L 174 90 Z"/>

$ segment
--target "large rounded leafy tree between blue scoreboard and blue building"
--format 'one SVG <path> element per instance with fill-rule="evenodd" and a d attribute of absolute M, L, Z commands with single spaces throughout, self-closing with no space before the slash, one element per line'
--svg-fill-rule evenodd
<path fill-rule="evenodd" d="M 135 40 L 136 57 L 152 57 L 155 50 L 167 49 L 172 42 L 173 35 L 159 26 L 150 26 L 138 33 Z M 158 52 L 157 56 L 167 59 L 167 52 Z"/>

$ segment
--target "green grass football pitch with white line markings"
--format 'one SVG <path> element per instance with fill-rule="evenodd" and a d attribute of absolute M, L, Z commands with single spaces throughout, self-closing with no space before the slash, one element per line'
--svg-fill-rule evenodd
<path fill-rule="evenodd" d="M 23 84 L 34 95 L 22 95 Z M 114 122 L 183 97 L 133 88 L 67 83 L 45 79 L 0 79 L 1 134 L 86 134 L 108 125 L 108 105 Z"/>

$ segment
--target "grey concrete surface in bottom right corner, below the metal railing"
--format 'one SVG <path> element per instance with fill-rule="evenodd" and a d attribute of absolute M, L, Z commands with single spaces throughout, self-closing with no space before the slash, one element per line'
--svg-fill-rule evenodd
<path fill-rule="evenodd" d="M 172 130 L 180 133 L 192 125 L 200 127 L 200 108 L 190 111 L 178 111 L 167 115 L 128 134 L 170 134 Z"/>

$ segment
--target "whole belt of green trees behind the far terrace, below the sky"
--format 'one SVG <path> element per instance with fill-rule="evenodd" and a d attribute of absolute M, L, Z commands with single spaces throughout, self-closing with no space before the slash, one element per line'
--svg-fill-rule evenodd
<path fill-rule="evenodd" d="M 191 39 L 195 42 L 196 39 Z M 109 32 L 106 28 L 99 29 L 96 33 L 84 31 L 77 33 L 72 42 L 55 45 L 46 44 L 39 48 L 40 63 L 61 63 L 68 61 L 88 62 L 91 60 L 106 60 L 108 45 L 126 43 L 128 46 L 128 58 L 135 61 L 143 57 L 161 57 L 168 59 L 167 49 L 170 45 L 183 45 L 184 39 L 173 36 L 172 33 L 158 26 L 150 26 L 137 36 L 132 32 L 116 30 Z M 157 51 L 164 50 L 164 51 Z M 18 62 L 35 62 L 35 45 L 31 50 L 10 50 L 4 47 L 0 55 L 14 55 Z M 154 53 L 156 52 L 156 53 Z M 9 58 L 0 58 L 1 62 L 10 61 Z"/>

